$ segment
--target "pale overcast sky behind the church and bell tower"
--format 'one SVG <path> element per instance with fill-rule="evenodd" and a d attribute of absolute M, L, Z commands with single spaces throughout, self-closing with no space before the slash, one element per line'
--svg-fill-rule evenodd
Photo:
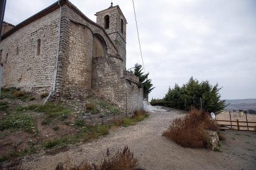
<path fill-rule="evenodd" d="M 54 0 L 7 0 L 4 20 L 17 25 Z M 70 0 L 96 22 L 111 0 Z M 125 15 L 127 68 L 142 64 L 132 0 L 113 0 Z M 256 98 L 255 0 L 134 0 L 145 70 L 163 98 L 191 76 L 220 84 L 222 99 Z"/>

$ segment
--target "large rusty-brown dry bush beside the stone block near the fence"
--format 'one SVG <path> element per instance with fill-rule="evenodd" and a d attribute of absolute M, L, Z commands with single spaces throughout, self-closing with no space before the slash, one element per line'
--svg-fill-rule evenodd
<path fill-rule="evenodd" d="M 209 141 L 207 129 L 217 131 L 218 126 L 210 119 L 208 113 L 192 109 L 184 118 L 174 119 L 163 136 L 182 147 L 207 147 Z"/>

